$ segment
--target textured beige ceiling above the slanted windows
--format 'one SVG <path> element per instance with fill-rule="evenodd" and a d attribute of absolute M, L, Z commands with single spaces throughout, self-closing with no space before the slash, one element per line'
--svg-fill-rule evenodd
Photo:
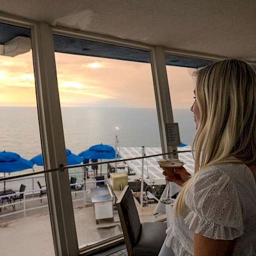
<path fill-rule="evenodd" d="M 0 0 L 0 11 L 52 26 L 256 62 L 255 0 Z"/>

